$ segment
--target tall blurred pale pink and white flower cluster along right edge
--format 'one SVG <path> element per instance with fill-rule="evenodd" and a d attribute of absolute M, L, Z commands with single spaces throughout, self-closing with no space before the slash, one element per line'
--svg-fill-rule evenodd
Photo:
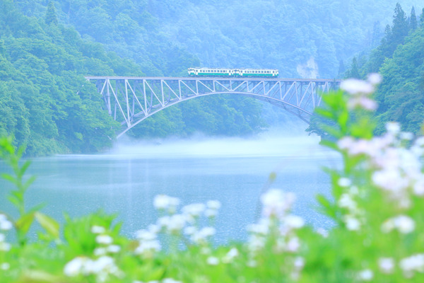
<path fill-rule="evenodd" d="M 343 81 L 341 88 L 351 95 L 348 108 L 375 110 L 377 105 L 369 96 L 380 81 L 381 77 L 376 74 L 370 75 L 367 81 Z M 381 137 L 358 137 L 357 134 L 356 137 L 338 139 L 336 147 L 343 153 L 345 164 L 351 166 L 343 173 L 348 172 L 351 179 L 338 178 L 341 194 L 337 196 L 336 203 L 342 209 L 346 229 L 357 231 L 362 225 L 372 224 L 367 227 L 367 233 L 374 229 L 379 238 L 387 234 L 384 241 L 394 241 L 390 245 L 396 246 L 395 255 L 392 246 L 375 251 L 392 255 L 377 258 L 379 272 L 391 275 L 398 266 L 404 277 L 409 279 L 418 272 L 424 273 L 423 253 L 405 257 L 405 254 L 411 254 L 410 248 L 416 243 L 419 243 L 416 248 L 422 250 L 422 236 L 415 232 L 421 226 L 416 209 L 420 209 L 418 203 L 424 196 L 424 137 L 415 138 L 410 132 L 401 132 L 401 126 L 396 122 L 387 123 L 386 129 Z M 381 198 L 379 207 L 382 208 L 378 212 L 372 210 L 376 206 L 370 196 Z M 361 204 L 358 204 L 359 200 Z M 365 210 L 368 219 L 365 219 Z M 403 239 L 407 239 L 407 249 Z M 376 271 L 372 268 L 362 270 L 357 273 L 357 279 L 372 281 L 377 277 Z"/>

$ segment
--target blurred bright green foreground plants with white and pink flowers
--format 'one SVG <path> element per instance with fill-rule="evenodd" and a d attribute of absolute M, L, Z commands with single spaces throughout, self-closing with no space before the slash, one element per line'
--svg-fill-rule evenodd
<path fill-rule="evenodd" d="M 396 123 L 373 136 L 377 103 L 370 96 L 380 81 L 377 74 L 344 81 L 343 91 L 323 98 L 327 108 L 319 113 L 334 122 L 325 130 L 336 139 L 325 144 L 343 164 L 327 169 L 331 199 L 318 196 L 335 223 L 329 231 L 290 213 L 293 193 L 269 189 L 246 243 L 212 244 L 219 202 L 179 212 L 179 200 L 165 195 L 153 200 L 158 221 L 134 239 L 121 236 L 114 217 L 102 212 L 66 217 L 59 238 L 54 219 L 25 207 L 29 162 L 20 165 L 22 151 L 1 138 L 1 157 L 12 168 L 3 177 L 16 185 L 10 200 L 18 214 L 0 212 L 0 282 L 422 282 L 424 139 L 413 141 Z M 33 221 L 42 231 L 27 241 Z M 13 232 L 18 241 L 6 238 Z"/>

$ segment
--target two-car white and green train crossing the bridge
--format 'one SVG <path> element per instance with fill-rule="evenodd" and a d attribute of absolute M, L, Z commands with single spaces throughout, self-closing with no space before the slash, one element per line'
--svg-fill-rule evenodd
<path fill-rule="evenodd" d="M 236 78 L 277 78 L 277 69 L 225 69 L 225 68 L 189 68 L 189 76 L 221 76 Z"/>

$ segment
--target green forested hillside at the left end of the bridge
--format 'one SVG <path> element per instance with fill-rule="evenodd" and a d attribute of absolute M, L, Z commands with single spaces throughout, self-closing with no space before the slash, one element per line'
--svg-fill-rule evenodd
<path fill-rule="evenodd" d="M 142 75 L 140 68 L 59 25 L 52 6 L 37 19 L 0 1 L 0 34 L 0 134 L 13 134 L 28 155 L 110 146 L 119 125 L 83 74 Z"/>

